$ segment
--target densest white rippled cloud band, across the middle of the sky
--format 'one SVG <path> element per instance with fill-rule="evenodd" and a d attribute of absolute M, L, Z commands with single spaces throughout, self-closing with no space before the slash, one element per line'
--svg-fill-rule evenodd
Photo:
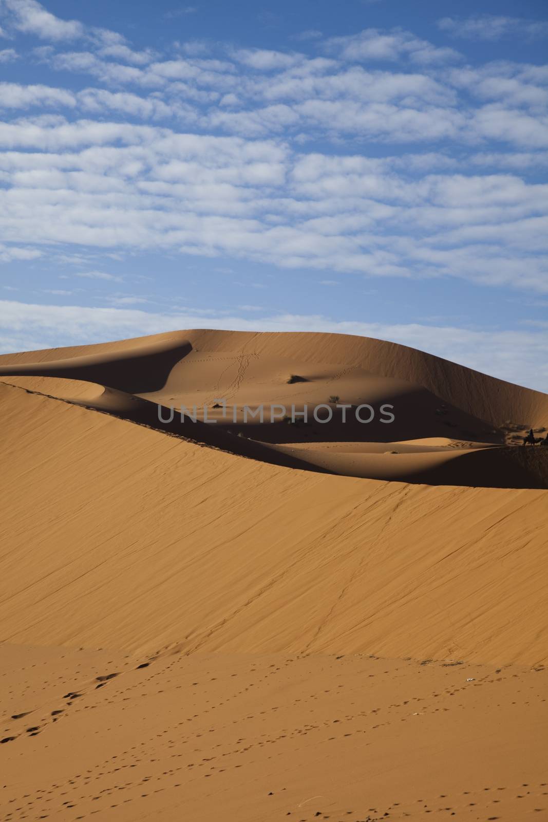
<path fill-rule="evenodd" d="M 19 150 L 0 155 L 0 230 L 20 245 L 70 238 L 548 290 L 548 186 L 516 173 L 454 173 L 435 152 L 294 155 L 276 141 L 62 118 L 7 124 L 2 140 Z"/>

